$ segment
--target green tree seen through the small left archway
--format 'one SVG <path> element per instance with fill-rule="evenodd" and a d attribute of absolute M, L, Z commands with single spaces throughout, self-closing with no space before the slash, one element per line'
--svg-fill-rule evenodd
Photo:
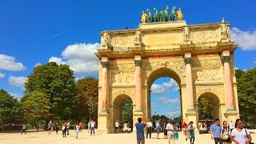
<path fill-rule="evenodd" d="M 133 121 L 133 101 L 129 98 L 123 102 L 122 106 L 122 122 Z"/>

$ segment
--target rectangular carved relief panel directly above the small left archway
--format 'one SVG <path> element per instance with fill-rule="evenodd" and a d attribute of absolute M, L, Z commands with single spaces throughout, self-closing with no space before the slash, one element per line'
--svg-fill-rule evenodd
<path fill-rule="evenodd" d="M 135 76 L 134 73 L 123 73 L 123 72 L 111 72 L 111 83 L 112 84 L 134 84 Z"/>

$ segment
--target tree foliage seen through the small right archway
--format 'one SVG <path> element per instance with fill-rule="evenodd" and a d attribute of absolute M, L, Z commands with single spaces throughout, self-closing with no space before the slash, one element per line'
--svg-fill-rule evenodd
<path fill-rule="evenodd" d="M 213 118 L 213 107 L 207 98 L 198 98 L 199 119 Z"/>

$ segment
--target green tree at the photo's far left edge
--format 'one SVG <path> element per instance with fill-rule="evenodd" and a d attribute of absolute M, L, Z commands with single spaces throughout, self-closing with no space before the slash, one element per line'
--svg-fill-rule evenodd
<path fill-rule="evenodd" d="M 8 94 L 5 90 L 0 90 L 0 126 L 3 124 L 22 122 L 22 105 Z"/>

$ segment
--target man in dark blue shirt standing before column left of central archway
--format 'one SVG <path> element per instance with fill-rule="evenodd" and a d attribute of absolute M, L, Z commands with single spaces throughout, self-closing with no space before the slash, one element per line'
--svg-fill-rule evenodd
<path fill-rule="evenodd" d="M 135 124 L 137 130 L 137 144 L 145 144 L 144 127 L 145 122 L 142 123 L 142 118 L 138 118 L 138 123 Z"/>

